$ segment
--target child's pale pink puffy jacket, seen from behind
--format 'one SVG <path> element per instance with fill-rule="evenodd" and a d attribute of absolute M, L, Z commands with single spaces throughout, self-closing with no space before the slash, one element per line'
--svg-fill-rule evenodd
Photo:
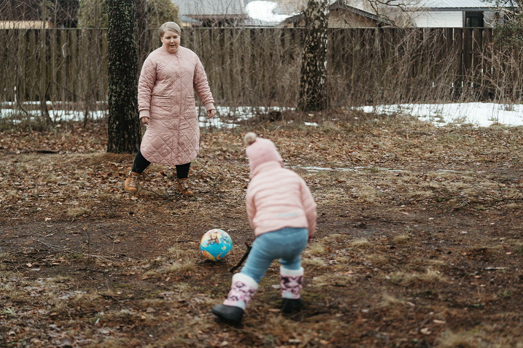
<path fill-rule="evenodd" d="M 311 237 L 316 229 L 316 203 L 305 181 L 279 161 L 262 163 L 251 172 L 245 196 L 254 234 L 283 227 L 303 227 Z"/>

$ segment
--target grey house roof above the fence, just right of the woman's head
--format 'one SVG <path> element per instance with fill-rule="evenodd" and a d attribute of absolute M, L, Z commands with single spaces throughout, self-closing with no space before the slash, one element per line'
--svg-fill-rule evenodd
<path fill-rule="evenodd" d="M 243 0 L 172 0 L 180 16 L 204 17 L 245 17 Z"/>

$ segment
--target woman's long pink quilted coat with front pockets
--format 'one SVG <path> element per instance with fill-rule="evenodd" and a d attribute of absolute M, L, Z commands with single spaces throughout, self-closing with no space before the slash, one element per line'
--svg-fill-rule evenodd
<path fill-rule="evenodd" d="M 196 53 L 163 46 L 151 52 L 138 82 L 140 118 L 149 117 L 140 152 L 152 163 L 181 165 L 198 155 L 200 129 L 195 90 L 207 110 L 214 109 L 207 76 Z"/>

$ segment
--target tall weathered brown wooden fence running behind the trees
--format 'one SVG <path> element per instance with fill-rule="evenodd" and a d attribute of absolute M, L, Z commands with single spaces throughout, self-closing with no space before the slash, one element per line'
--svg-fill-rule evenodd
<path fill-rule="evenodd" d="M 160 45 L 150 32 L 149 51 Z M 107 35 L 96 29 L 0 30 L 0 100 L 62 107 L 107 101 Z M 415 101 L 521 100 L 521 51 L 495 50 L 487 28 L 331 29 L 331 107 Z M 304 29 L 184 29 L 215 100 L 295 106 Z M 90 105 L 90 107 L 89 107 Z"/>

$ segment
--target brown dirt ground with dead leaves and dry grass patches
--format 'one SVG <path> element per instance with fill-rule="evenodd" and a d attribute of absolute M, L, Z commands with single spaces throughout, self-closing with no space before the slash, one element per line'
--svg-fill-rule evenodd
<path fill-rule="evenodd" d="M 523 128 L 396 115 L 238 125 L 201 135 L 190 180 L 105 152 L 106 124 L 0 133 L 2 347 L 523 347 Z M 248 130 L 275 142 L 317 203 L 304 307 L 282 314 L 279 264 L 243 326 L 214 321 L 254 235 Z M 203 233 L 234 247 L 203 258 Z"/>

